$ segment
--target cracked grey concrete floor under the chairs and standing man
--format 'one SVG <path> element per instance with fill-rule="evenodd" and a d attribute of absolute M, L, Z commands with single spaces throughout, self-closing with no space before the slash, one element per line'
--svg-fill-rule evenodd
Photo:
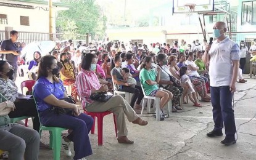
<path fill-rule="evenodd" d="M 246 84 L 237 84 L 234 95 L 238 134 L 235 145 L 221 145 L 224 135 L 206 137 L 207 132 L 213 129 L 212 105 L 202 103 L 202 108 L 196 108 L 190 102 L 183 106 L 182 112 L 172 113 L 165 121 L 155 121 L 152 114 L 143 116 L 149 121 L 147 126 L 127 121 L 128 137 L 134 140 L 133 145 L 117 143 L 113 117 L 106 116 L 104 144 L 97 145 L 97 129 L 96 134 L 89 134 L 93 155 L 86 159 L 256 159 L 256 79 L 247 80 Z M 43 132 L 43 142 L 49 143 L 48 136 L 48 132 Z M 60 154 L 61 159 L 72 159 L 65 156 L 63 151 Z M 39 159 L 53 159 L 52 150 L 40 150 Z"/>

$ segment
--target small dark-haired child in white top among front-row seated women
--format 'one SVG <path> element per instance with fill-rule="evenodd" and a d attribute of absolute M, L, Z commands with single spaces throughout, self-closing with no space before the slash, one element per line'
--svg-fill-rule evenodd
<path fill-rule="evenodd" d="M 181 66 L 180 68 L 180 77 L 181 77 L 181 82 L 188 84 L 189 89 L 188 89 L 188 96 L 189 99 L 191 100 L 192 103 L 194 103 L 193 106 L 202 106 L 200 103 L 197 102 L 196 98 L 196 92 L 192 86 L 192 83 L 190 81 L 188 74 L 188 68 L 187 66 Z"/>

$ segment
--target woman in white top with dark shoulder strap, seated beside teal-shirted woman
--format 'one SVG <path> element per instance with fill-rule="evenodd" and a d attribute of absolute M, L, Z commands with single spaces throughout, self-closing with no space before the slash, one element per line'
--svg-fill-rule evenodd
<path fill-rule="evenodd" d="M 173 94 L 172 98 L 172 110 L 176 112 L 177 110 L 182 110 L 179 106 L 181 95 L 183 94 L 183 87 L 181 87 L 180 80 L 176 79 L 169 71 L 167 66 L 167 55 L 165 54 L 158 54 L 157 55 L 157 63 L 160 66 L 160 81 L 159 87 L 163 87 L 170 91 Z M 171 79 L 172 78 L 172 79 Z"/>

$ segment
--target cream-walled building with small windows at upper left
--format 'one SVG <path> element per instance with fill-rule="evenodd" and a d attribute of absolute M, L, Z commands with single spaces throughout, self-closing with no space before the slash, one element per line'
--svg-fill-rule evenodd
<path fill-rule="evenodd" d="M 53 2 L 53 17 L 58 10 L 66 10 L 68 6 Z M 56 33 L 54 18 L 53 33 Z M 48 1 L 39 0 L 0 0 L 0 31 L 12 27 L 17 31 L 49 33 Z"/>

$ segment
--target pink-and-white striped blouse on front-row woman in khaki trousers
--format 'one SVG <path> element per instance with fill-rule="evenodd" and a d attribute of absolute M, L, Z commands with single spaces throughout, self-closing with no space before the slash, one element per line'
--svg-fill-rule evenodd
<path fill-rule="evenodd" d="M 91 104 L 94 101 L 89 97 L 93 90 L 98 90 L 101 85 L 99 84 L 99 79 L 94 71 L 86 71 L 81 69 L 76 77 L 76 89 L 81 98 L 82 106 L 85 108 L 86 103 Z"/>

